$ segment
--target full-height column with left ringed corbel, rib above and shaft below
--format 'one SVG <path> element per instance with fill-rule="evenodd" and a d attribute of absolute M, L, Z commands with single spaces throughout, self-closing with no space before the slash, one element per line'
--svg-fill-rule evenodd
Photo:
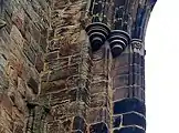
<path fill-rule="evenodd" d="M 90 24 L 86 32 L 91 43 L 91 84 L 87 124 L 90 133 L 108 133 L 112 126 L 112 54 L 108 42 L 112 0 L 91 0 Z"/>

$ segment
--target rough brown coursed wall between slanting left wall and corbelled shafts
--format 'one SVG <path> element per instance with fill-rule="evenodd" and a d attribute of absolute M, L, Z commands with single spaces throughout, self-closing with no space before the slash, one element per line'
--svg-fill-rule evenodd
<path fill-rule="evenodd" d="M 86 2 L 54 0 L 42 74 L 41 99 L 51 111 L 46 133 L 86 132 L 91 58 L 83 18 Z M 48 99 L 46 99 L 48 98 Z"/>

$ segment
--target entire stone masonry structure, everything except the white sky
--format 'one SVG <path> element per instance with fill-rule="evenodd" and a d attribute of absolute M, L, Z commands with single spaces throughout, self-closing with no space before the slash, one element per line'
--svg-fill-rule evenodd
<path fill-rule="evenodd" d="M 145 133 L 156 0 L 0 0 L 0 133 Z"/>

